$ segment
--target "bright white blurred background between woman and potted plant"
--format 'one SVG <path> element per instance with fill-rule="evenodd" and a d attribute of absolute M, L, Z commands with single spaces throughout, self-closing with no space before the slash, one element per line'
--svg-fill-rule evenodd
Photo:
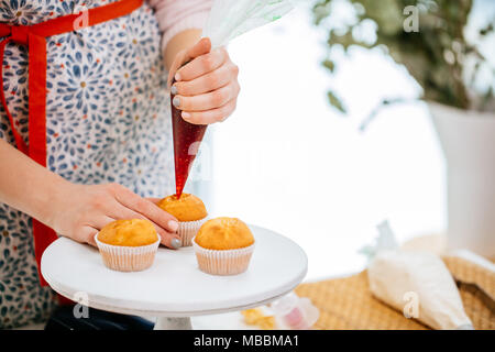
<path fill-rule="evenodd" d="M 307 279 L 362 270 L 359 250 L 383 220 L 400 242 L 442 233 L 447 223 L 446 164 L 428 107 L 416 99 L 421 87 L 383 51 L 358 46 L 346 54 L 332 47 L 338 66 L 330 75 L 321 65 L 328 26 L 315 25 L 314 4 L 230 45 L 240 67 L 238 108 L 209 128 L 196 165 L 210 213 L 292 238 L 308 254 Z M 475 1 L 472 22 L 494 10 L 495 1 Z M 352 21 L 353 11 L 333 0 L 329 25 Z M 363 26 L 360 35 L 373 38 L 374 30 Z M 346 113 L 330 106 L 329 89 Z M 381 110 L 361 130 L 397 92 L 410 100 Z"/>

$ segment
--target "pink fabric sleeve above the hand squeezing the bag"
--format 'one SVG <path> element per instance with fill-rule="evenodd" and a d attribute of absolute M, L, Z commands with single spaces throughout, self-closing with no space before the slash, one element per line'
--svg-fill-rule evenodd
<path fill-rule="evenodd" d="M 148 0 L 155 10 L 162 36 L 162 50 L 177 33 L 189 29 L 202 29 L 212 0 Z"/>

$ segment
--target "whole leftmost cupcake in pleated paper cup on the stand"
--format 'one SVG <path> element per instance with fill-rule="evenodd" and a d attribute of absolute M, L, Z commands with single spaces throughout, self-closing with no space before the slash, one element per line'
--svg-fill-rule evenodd
<path fill-rule="evenodd" d="M 160 235 L 148 220 L 116 220 L 95 235 L 107 267 L 119 272 L 148 268 L 160 245 Z"/>

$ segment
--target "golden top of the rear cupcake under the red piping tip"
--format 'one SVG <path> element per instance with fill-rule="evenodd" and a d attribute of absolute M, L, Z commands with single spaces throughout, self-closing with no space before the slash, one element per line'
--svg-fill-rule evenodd
<path fill-rule="evenodd" d="M 196 221 L 208 216 L 202 200 L 195 195 L 172 195 L 158 201 L 158 207 L 173 215 L 178 221 Z"/>

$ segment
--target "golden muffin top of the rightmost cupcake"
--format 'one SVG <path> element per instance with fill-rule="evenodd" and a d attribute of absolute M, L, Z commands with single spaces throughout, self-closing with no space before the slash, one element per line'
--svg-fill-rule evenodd
<path fill-rule="evenodd" d="M 254 237 L 243 221 L 222 217 L 205 222 L 195 241 L 208 250 L 235 250 L 253 244 Z"/>

